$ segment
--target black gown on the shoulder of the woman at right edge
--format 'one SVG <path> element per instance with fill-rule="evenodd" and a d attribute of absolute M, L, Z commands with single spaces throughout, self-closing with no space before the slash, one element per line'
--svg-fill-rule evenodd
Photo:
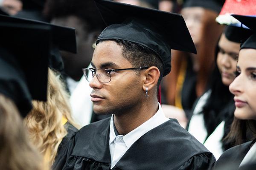
<path fill-rule="evenodd" d="M 250 150 L 252 141 L 231 147 L 222 153 L 221 157 L 216 161 L 213 170 L 237 170 L 244 156 Z"/>

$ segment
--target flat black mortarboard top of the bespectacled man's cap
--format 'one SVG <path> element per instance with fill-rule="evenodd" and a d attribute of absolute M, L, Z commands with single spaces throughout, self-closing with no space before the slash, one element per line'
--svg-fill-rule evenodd
<path fill-rule="evenodd" d="M 171 49 L 187 51 L 196 54 L 196 48 L 180 14 L 159 11 L 151 8 L 117 3 L 109 0 L 95 0 L 97 7 L 107 26 L 122 23 L 127 18 L 149 20 L 161 27 Z"/>

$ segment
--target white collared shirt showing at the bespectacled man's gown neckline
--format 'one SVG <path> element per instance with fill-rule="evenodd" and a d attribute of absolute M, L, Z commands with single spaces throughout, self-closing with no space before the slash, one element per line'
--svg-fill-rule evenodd
<path fill-rule="evenodd" d="M 125 152 L 136 142 L 141 136 L 147 133 L 149 130 L 163 124 L 169 119 L 163 113 L 160 103 L 158 103 L 159 109 L 150 119 L 138 126 L 136 129 L 127 133 L 125 136 L 116 136 L 113 127 L 113 115 L 110 121 L 110 133 L 109 133 L 109 150 L 111 154 L 111 169 L 122 158 Z"/>

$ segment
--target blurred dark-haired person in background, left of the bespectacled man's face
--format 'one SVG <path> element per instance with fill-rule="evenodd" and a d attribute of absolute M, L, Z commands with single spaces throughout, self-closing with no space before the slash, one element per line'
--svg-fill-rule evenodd
<path fill-rule="evenodd" d="M 93 44 L 105 24 L 93 0 L 47 0 L 44 16 L 51 23 L 76 28 L 77 54 L 61 51 L 64 77 L 72 94 L 82 77 L 82 68 L 90 65 Z"/>

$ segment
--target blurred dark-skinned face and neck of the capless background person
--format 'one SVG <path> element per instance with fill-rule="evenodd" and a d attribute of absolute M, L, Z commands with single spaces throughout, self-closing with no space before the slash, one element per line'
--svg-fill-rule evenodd
<path fill-rule="evenodd" d="M 90 64 L 94 50 L 92 45 L 100 31 L 87 31 L 87 23 L 74 15 L 55 17 L 51 23 L 76 28 L 77 53 L 61 51 L 61 56 L 67 75 L 75 81 L 79 81 L 83 75 L 82 68 L 87 68 Z"/>

